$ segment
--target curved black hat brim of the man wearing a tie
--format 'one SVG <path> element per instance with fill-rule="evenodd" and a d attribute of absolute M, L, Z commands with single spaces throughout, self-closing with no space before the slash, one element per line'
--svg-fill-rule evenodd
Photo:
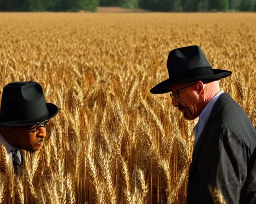
<path fill-rule="evenodd" d="M 31 126 L 34 124 L 38 124 L 44 120 L 49 120 L 50 118 L 53 118 L 54 116 L 56 116 L 56 114 L 59 111 L 58 106 L 51 103 L 46 103 L 46 107 L 48 109 L 48 114 L 40 118 L 36 118 L 34 120 L 18 120 L 18 121 L 6 121 L 6 122 L 2 121 L 0 122 L 0 126 L 13 126 L 13 127 Z"/>

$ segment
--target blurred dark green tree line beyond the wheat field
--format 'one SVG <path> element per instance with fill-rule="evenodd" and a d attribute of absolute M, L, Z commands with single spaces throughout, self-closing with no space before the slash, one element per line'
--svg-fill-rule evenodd
<path fill-rule="evenodd" d="M 0 11 L 96 12 L 98 6 L 120 6 L 163 12 L 256 11 L 256 0 L 0 0 Z"/>

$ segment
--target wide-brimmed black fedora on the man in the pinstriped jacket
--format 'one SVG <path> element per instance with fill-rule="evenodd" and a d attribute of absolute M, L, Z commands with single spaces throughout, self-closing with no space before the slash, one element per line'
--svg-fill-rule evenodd
<path fill-rule="evenodd" d="M 199 80 L 219 80 L 232 74 L 223 69 L 212 69 L 206 56 L 198 45 L 181 47 L 170 51 L 167 59 L 169 78 L 154 86 L 152 94 L 170 92 L 174 84 Z"/>

